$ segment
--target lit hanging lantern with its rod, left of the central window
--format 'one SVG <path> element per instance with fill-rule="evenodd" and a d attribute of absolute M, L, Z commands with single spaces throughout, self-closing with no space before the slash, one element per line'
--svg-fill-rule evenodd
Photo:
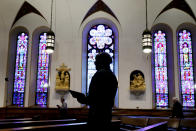
<path fill-rule="evenodd" d="M 47 32 L 47 37 L 46 37 L 46 52 L 49 54 L 54 52 L 54 46 L 55 46 L 55 34 L 52 31 L 52 7 L 53 7 L 53 0 L 51 1 L 50 30 Z"/>

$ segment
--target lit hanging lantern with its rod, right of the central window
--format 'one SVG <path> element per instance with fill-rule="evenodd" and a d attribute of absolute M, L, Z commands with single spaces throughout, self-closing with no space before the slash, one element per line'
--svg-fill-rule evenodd
<path fill-rule="evenodd" d="M 142 49 L 144 53 L 151 53 L 152 51 L 152 34 L 148 30 L 147 21 L 147 0 L 146 0 L 146 30 L 142 33 Z"/>

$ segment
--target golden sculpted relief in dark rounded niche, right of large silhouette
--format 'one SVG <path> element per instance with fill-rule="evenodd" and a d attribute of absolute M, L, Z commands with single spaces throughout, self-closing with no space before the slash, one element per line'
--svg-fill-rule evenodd
<path fill-rule="evenodd" d="M 130 81 L 130 91 L 135 95 L 141 95 L 146 90 L 146 84 L 144 81 L 144 77 L 140 72 L 133 74 L 133 78 Z"/>

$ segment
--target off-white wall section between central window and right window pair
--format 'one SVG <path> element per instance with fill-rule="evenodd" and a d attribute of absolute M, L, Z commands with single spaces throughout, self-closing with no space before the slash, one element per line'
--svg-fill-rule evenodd
<path fill-rule="evenodd" d="M 122 27 L 119 42 L 119 108 L 152 108 L 150 56 L 142 52 L 142 33 L 145 30 L 145 2 L 111 2 Z M 119 6 L 121 5 L 121 6 Z M 134 70 L 144 73 L 146 92 L 135 97 L 130 93 L 130 74 Z"/>

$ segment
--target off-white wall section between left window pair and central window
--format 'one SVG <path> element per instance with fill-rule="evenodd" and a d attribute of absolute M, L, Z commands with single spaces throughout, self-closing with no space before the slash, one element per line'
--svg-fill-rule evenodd
<path fill-rule="evenodd" d="M 82 4 L 81 1 L 56 1 L 56 20 L 54 28 L 56 33 L 55 52 L 52 55 L 53 64 L 51 65 L 51 87 L 55 87 L 56 68 L 64 63 L 70 71 L 70 88 L 81 92 L 81 51 L 82 42 L 79 39 L 78 31 L 82 21 L 81 13 L 86 13 L 89 4 Z M 81 5 L 84 7 L 81 8 Z M 87 7 L 86 7 L 87 6 Z M 83 11 L 83 10 L 84 11 Z M 54 89 L 50 89 L 50 107 L 60 104 L 60 96 Z M 81 105 L 70 94 L 66 94 L 68 107 L 80 107 Z"/>

